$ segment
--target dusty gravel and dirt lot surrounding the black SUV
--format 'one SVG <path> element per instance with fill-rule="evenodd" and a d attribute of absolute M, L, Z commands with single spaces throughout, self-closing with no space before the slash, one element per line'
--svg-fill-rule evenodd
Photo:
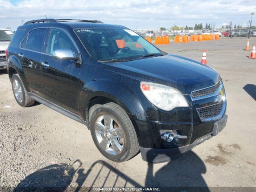
<path fill-rule="evenodd" d="M 218 136 L 161 164 L 140 154 L 109 161 L 82 124 L 42 104 L 20 107 L 0 72 L 0 186 L 256 186 L 256 60 L 246 57 L 245 45 L 245 39 L 221 39 L 158 46 L 197 61 L 206 49 L 228 104 L 228 123 Z"/>

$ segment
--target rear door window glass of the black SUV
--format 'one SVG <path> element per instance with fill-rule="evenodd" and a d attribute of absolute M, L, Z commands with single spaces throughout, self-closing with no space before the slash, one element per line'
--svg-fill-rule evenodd
<path fill-rule="evenodd" d="M 46 29 L 34 29 L 28 34 L 27 49 L 41 52 Z"/>

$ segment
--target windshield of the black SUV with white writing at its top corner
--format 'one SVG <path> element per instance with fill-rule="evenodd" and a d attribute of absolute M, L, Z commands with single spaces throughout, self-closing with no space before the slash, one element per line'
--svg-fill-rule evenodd
<path fill-rule="evenodd" d="M 162 52 L 132 30 L 83 28 L 74 31 L 92 58 L 97 61 L 125 61 L 162 55 Z"/>

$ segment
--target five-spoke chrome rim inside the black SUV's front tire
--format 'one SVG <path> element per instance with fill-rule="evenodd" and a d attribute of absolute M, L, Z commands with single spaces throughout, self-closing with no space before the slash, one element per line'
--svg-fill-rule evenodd
<path fill-rule="evenodd" d="M 109 115 L 100 115 L 95 122 L 95 134 L 100 148 L 112 155 L 118 155 L 124 148 L 124 132 Z"/>

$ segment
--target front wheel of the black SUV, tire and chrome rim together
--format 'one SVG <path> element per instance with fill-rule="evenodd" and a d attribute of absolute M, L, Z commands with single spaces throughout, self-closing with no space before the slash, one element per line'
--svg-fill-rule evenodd
<path fill-rule="evenodd" d="M 103 120 L 101 120 L 102 118 Z M 108 120 L 108 118 L 112 121 Z M 112 132 L 112 135 L 108 134 L 110 132 L 108 132 L 107 127 L 109 127 L 109 124 L 111 129 L 111 124 L 107 122 L 113 122 L 112 127 L 116 131 Z M 104 125 L 106 129 L 102 129 L 102 126 L 99 126 L 99 124 Z M 106 158 L 114 162 L 123 162 L 129 160 L 138 153 L 139 144 L 134 126 L 124 109 L 119 105 L 110 102 L 96 108 L 91 116 L 90 127 L 92 139 L 96 147 Z M 101 131 L 98 131 L 99 129 Z M 103 132 L 107 133 L 103 134 Z M 118 138 L 112 140 L 113 135 Z M 108 136 L 110 138 L 108 138 Z M 116 141 L 114 142 L 114 140 Z M 117 140 L 118 143 L 115 144 Z M 102 147 L 102 144 L 104 148 Z M 121 146 L 122 150 L 120 150 L 120 148 L 114 150 L 117 146 Z M 118 154 L 118 152 L 120 153 Z"/>

